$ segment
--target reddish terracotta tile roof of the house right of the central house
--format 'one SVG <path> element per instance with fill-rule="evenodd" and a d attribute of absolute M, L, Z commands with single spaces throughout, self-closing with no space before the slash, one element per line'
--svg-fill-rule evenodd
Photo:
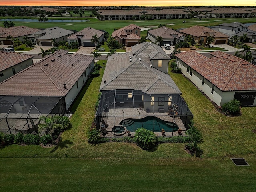
<path fill-rule="evenodd" d="M 256 90 L 256 66 L 246 60 L 225 53 L 212 53 L 207 58 L 195 51 L 176 54 L 222 91 Z"/>

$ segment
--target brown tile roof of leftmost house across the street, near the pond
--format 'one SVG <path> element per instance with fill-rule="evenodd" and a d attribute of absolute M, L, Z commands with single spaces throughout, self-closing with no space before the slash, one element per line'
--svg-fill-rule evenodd
<path fill-rule="evenodd" d="M 14 27 L 6 28 L 5 30 L 1 31 L 2 35 L 0 35 L 0 37 L 7 37 L 10 35 L 16 38 L 16 37 L 31 35 L 38 31 L 41 31 L 41 30 L 26 27 L 26 26 L 14 26 Z"/>

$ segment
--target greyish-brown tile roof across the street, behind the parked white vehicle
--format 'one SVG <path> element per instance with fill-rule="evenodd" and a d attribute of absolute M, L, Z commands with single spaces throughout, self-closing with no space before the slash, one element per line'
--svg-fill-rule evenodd
<path fill-rule="evenodd" d="M 157 29 L 149 30 L 148 33 L 155 37 L 157 37 L 157 36 L 162 37 L 163 39 L 176 38 L 173 35 L 177 35 L 178 38 L 183 36 L 183 34 L 180 34 L 179 32 L 176 32 L 175 30 L 172 30 L 168 27 L 160 27 Z"/>

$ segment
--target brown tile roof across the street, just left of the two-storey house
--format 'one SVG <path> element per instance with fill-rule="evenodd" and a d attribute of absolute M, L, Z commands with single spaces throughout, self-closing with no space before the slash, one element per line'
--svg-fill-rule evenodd
<path fill-rule="evenodd" d="M 104 32 L 91 28 L 91 27 L 86 27 L 80 31 L 78 31 L 77 33 L 73 34 L 72 36 L 69 36 L 67 39 L 78 39 L 77 36 L 83 36 L 81 39 L 92 39 L 92 36 L 97 35 L 97 37 L 99 38 L 100 36 L 102 36 L 104 34 Z"/>

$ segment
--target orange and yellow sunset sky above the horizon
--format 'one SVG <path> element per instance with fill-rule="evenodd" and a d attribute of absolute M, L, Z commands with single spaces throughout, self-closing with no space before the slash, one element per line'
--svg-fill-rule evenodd
<path fill-rule="evenodd" d="M 0 0 L 22 6 L 256 6 L 256 0 Z"/>

